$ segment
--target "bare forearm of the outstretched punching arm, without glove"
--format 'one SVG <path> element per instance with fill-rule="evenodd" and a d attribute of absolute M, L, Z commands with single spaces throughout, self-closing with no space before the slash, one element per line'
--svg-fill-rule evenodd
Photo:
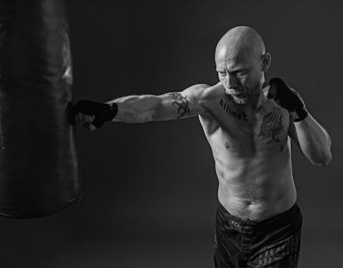
<path fill-rule="evenodd" d="M 123 123 L 144 123 L 152 121 L 154 110 L 161 102 L 159 96 L 142 95 L 142 96 L 124 96 L 111 100 L 118 105 L 118 113 L 113 118 L 113 122 Z"/>

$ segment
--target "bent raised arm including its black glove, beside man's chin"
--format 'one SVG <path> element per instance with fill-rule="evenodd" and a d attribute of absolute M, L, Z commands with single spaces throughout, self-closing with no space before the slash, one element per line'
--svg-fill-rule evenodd
<path fill-rule="evenodd" d="M 269 82 L 267 98 L 289 111 L 288 135 L 312 164 L 327 166 L 331 161 L 331 140 L 325 129 L 308 113 L 305 102 L 281 78 Z"/>

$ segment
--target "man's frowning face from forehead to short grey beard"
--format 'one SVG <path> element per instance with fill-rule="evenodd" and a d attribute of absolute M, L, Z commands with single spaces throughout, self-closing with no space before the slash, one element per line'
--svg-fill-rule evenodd
<path fill-rule="evenodd" d="M 252 96 L 261 91 L 261 58 L 219 56 L 215 65 L 220 82 L 235 103 L 246 104 Z"/>

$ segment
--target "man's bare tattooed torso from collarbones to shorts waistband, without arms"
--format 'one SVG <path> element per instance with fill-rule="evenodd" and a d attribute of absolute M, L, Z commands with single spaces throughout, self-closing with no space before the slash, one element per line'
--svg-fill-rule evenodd
<path fill-rule="evenodd" d="M 213 152 L 220 203 L 241 219 L 261 220 L 294 205 L 289 113 L 265 99 L 257 111 L 222 93 L 199 115 Z"/>

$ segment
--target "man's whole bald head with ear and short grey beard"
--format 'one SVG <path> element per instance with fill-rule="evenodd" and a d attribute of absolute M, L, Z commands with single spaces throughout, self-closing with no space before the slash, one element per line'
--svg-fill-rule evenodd
<path fill-rule="evenodd" d="M 218 78 L 238 104 L 246 104 L 261 93 L 269 65 L 270 54 L 265 53 L 261 36 L 251 27 L 229 30 L 215 48 Z"/>

